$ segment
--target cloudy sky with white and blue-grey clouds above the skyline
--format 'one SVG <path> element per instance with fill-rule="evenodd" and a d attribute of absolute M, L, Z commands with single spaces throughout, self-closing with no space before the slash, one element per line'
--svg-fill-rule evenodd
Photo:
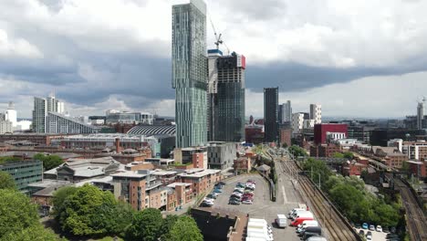
<path fill-rule="evenodd" d="M 181 1 L 180 1 L 181 2 Z M 0 0 L 0 111 L 55 92 L 74 115 L 174 115 L 173 0 Z M 264 87 L 295 111 L 403 117 L 427 95 L 427 1 L 207 0 L 213 29 L 247 59 L 246 115 Z M 226 50 L 224 49 L 226 52 Z"/>

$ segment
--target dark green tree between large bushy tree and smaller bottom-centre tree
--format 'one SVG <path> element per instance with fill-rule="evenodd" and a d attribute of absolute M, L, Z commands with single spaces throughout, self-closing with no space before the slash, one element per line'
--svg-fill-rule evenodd
<path fill-rule="evenodd" d="M 161 235 L 161 211 L 147 208 L 133 215 L 132 224 L 126 230 L 126 240 L 154 241 Z"/>

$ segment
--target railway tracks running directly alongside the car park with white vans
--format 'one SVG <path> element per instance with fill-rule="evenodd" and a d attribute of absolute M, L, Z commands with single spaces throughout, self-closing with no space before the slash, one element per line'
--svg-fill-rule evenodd
<path fill-rule="evenodd" d="M 331 207 L 328 201 L 319 193 L 318 189 L 313 186 L 307 176 L 299 175 L 299 168 L 295 162 L 282 162 L 285 173 L 295 178 L 303 192 L 310 201 L 310 208 L 318 217 L 318 221 L 328 230 L 329 240 L 353 241 L 359 240 L 348 225 L 345 225 L 337 212 Z"/>

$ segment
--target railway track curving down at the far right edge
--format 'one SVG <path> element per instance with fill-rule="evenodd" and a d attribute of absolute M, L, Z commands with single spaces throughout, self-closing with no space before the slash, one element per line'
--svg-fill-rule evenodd
<path fill-rule="evenodd" d="M 395 178 L 394 182 L 401 193 L 401 200 L 406 211 L 406 223 L 411 240 L 427 240 L 427 219 L 418 205 L 417 200 L 411 193 L 411 189 L 398 178 Z"/>

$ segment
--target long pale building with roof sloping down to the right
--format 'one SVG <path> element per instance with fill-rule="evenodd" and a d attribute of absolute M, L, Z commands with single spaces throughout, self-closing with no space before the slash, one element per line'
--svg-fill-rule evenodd
<path fill-rule="evenodd" d="M 46 130 L 47 133 L 56 134 L 80 134 L 80 133 L 96 133 L 100 131 L 97 126 L 92 126 L 65 115 L 48 112 Z"/>

